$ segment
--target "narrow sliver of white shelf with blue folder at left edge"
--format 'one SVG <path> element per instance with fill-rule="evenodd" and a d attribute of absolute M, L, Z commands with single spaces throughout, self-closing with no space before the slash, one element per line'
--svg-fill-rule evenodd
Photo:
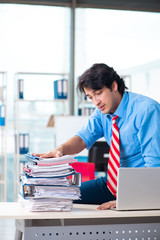
<path fill-rule="evenodd" d="M 7 199 L 7 72 L 0 72 L 0 201 Z"/>

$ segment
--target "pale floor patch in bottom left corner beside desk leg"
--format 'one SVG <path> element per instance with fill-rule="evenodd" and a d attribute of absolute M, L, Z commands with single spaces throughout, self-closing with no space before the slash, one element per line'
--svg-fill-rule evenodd
<path fill-rule="evenodd" d="M 0 240 L 14 240 L 15 220 L 0 219 Z"/>

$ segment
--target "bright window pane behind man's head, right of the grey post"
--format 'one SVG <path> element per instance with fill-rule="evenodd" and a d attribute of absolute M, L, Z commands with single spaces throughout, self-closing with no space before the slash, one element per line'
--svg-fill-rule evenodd
<path fill-rule="evenodd" d="M 130 76 L 131 91 L 160 100 L 160 13 L 77 9 L 77 77 L 94 63 Z"/>

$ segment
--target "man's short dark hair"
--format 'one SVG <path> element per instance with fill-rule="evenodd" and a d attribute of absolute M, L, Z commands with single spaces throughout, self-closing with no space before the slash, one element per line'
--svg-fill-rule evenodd
<path fill-rule="evenodd" d="M 123 78 L 112 67 L 104 63 L 96 63 L 79 77 L 77 89 L 80 92 L 84 92 L 84 88 L 96 91 L 106 86 L 112 90 L 112 83 L 114 81 L 118 84 L 118 91 L 123 95 L 125 88 L 127 88 Z"/>

